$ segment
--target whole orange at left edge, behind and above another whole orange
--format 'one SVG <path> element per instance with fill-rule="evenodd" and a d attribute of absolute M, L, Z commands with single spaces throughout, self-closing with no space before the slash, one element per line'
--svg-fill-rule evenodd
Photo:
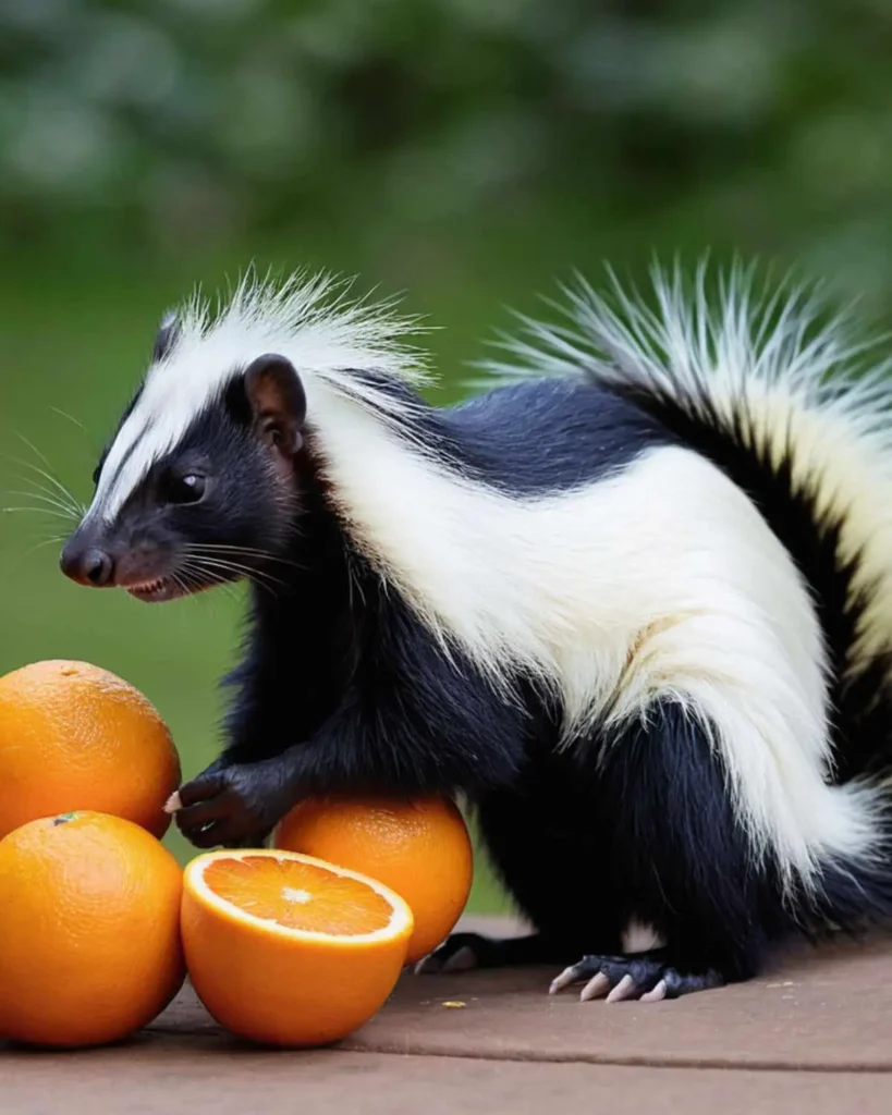
<path fill-rule="evenodd" d="M 0 837 L 71 809 L 126 817 L 161 837 L 180 775 L 154 706 L 108 670 L 49 660 L 0 678 Z"/>

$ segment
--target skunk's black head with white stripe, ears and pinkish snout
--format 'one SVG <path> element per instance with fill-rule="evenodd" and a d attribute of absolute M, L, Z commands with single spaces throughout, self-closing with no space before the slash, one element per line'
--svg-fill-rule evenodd
<path fill-rule="evenodd" d="M 190 351 L 177 319 L 163 322 L 62 550 L 67 576 L 164 601 L 262 578 L 285 550 L 306 456 L 304 388 L 285 357 L 231 348 Z"/>

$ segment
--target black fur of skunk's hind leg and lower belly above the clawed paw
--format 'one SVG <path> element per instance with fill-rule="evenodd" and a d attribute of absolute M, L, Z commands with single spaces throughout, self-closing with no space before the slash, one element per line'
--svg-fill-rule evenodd
<path fill-rule="evenodd" d="M 630 919 L 667 942 L 647 991 L 663 978 L 747 979 L 770 942 L 795 928 L 734 815 L 725 770 L 704 728 L 671 701 L 628 725 L 580 769 L 555 750 L 556 724 L 540 720 L 521 776 L 477 799 L 481 831 L 503 882 L 562 962 L 615 958 Z M 493 942 L 464 939 L 484 963 Z M 455 944 L 428 964 L 448 967 Z M 542 952 L 529 949 L 529 960 Z M 488 957 L 500 962 L 497 951 Z M 597 973 L 583 968 L 580 978 Z M 667 977 L 667 972 L 670 977 Z M 627 973 L 612 961 L 611 985 Z M 695 988 L 690 988 L 691 990 Z M 681 993 L 681 985 L 676 988 Z"/>

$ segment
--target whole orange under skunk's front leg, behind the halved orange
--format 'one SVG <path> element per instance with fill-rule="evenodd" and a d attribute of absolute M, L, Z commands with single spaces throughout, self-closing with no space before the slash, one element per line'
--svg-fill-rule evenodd
<path fill-rule="evenodd" d="M 272 844 L 370 875 L 405 899 L 415 918 L 406 963 L 445 940 L 474 874 L 467 826 L 445 797 L 308 798 L 282 818 Z"/>

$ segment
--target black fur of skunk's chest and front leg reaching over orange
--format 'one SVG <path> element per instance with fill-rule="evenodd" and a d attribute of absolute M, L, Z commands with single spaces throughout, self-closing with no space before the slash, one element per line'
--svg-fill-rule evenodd
<path fill-rule="evenodd" d="M 299 797 L 330 789 L 454 795 L 510 784 L 522 708 L 496 699 L 458 648 L 447 661 L 352 552 L 314 483 L 291 553 L 301 564 L 292 583 L 254 593 L 245 657 L 227 679 L 236 696 L 215 788 L 200 778 L 181 791 L 177 823 L 190 837 L 212 846 L 265 835 Z M 270 762 L 259 769 L 258 759 Z M 231 811 L 232 788 L 251 808 Z"/>

